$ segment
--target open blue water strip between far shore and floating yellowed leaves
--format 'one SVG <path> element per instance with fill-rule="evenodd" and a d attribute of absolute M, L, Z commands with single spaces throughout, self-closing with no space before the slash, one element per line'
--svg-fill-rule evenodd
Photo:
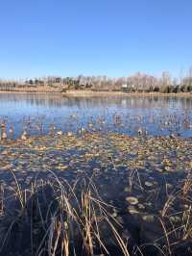
<path fill-rule="evenodd" d="M 100 132 L 137 135 L 192 136 L 190 97 L 76 97 L 60 94 L 1 93 L 0 120 L 12 125 L 14 138 L 56 131 L 77 132 L 84 127 Z"/>

